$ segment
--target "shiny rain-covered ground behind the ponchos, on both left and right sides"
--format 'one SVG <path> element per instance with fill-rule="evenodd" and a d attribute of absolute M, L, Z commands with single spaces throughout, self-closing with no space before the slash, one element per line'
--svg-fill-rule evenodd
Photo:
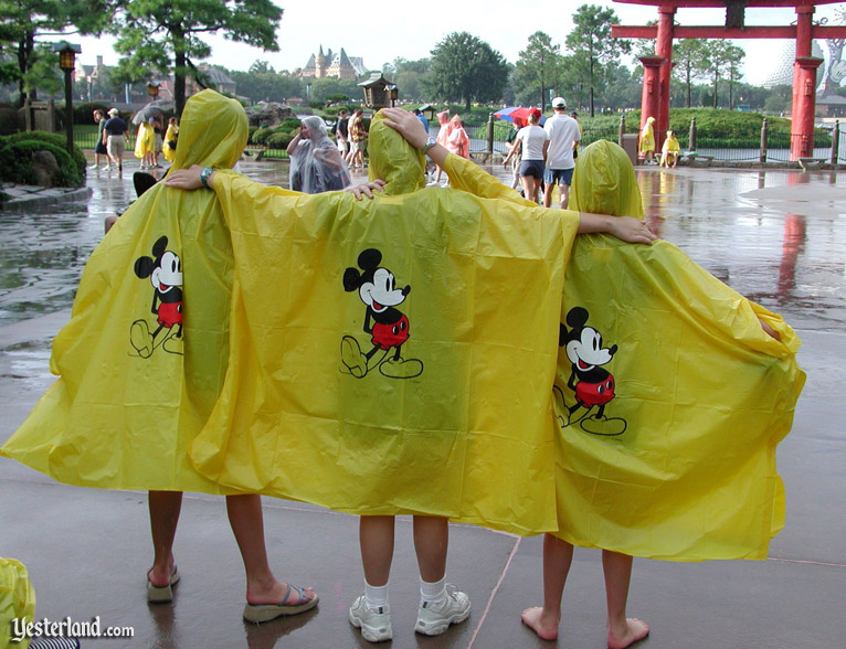
<path fill-rule="evenodd" d="M 260 182 L 287 185 L 285 163 L 242 167 Z M 510 182 L 501 167 L 486 169 Z M 0 326 L 71 306 L 103 219 L 135 195 L 131 172 L 93 172 L 84 205 L 0 212 Z M 648 223 L 663 238 L 794 326 L 843 330 L 846 174 L 649 168 L 637 179 Z"/>

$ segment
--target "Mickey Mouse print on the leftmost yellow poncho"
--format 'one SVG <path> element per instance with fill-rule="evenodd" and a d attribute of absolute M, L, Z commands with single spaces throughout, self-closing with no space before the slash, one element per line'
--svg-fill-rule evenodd
<path fill-rule="evenodd" d="M 139 279 L 149 277 L 152 284 L 150 311 L 158 324 L 150 333 L 147 320 L 140 319 L 129 329 L 129 342 L 142 359 L 150 358 L 158 347 L 168 353 L 182 353 L 182 262 L 167 247 L 168 237 L 159 237 L 152 244 L 152 257 L 135 260 L 136 276 Z"/>

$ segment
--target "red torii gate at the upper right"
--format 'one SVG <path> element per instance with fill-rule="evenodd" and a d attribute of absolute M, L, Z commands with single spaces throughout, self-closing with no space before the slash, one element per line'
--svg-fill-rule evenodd
<path fill-rule="evenodd" d="M 655 141 L 659 147 L 669 126 L 669 78 L 673 67 L 673 39 L 794 39 L 796 62 L 793 66 L 793 109 L 791 124 L 791 159 L 810 158 L 814 153 L 814 104 L 816 68 L 822 58 L 811 56 L 813 39 L 846 38 L 846 26 L 823 26 L 812 22 L 817 4 L 842 0 L 614 0 L 627 4 L 658 8 L 658 24 L 644 26 L 611 25 L 616 39 L 655 39 L 655 56 L 643 56 L 643 96 L 641 128 L 646 117 L 655 117 Z M 796 24 L 789 26 L 745 26 L 747 8 L 792 8 Z M 674 24 L 679 9 L 725 8 L 725 26 L 680 26 Z"/>

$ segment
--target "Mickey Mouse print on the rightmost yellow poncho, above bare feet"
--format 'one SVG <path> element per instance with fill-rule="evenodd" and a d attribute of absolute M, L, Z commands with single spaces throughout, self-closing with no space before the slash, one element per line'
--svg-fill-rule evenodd
<path fill-rule="evenodd" d="M 567 412 L 567 418 L 559 417 L 561 427 L 580 424 L 582 430 L 593 435 L 622 435 L 626 421 L 605 417 L 605 406 L 614 398 L 614 376 L 602 365 L 611 362 L 617 352 L 617 345 L 602 347 L 602 334 L 593 327 L 588 327 L 588 310 L 574 307 L 567 313 L 567 327 L 561 324 L 559 347 L 563 347 L 571 363 L 570 379 L 567 386 L 575 395 L 575 404 L 568 406 L 560 387 L 553 386 L 559 412 Z M 591 411 L 596 413 L 589 417 Z M 573 421 L 573 414 L 585 408 L 581 417 Z"/>

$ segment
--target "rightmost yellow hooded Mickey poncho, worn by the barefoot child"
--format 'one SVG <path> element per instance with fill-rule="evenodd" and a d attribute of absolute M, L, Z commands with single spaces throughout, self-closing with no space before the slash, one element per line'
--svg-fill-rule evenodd
<path fill-rule="evenodd" d="M 642 217 L 634 169 L 606 141 L 579 156 L 570 201 Z M 775 446 L 805 377 L 794 331 L 670 243 L 605 235 L 578 237 L 561 322 L 559 535 L 654 558 L 764 558 L 784 523 Z"/>

